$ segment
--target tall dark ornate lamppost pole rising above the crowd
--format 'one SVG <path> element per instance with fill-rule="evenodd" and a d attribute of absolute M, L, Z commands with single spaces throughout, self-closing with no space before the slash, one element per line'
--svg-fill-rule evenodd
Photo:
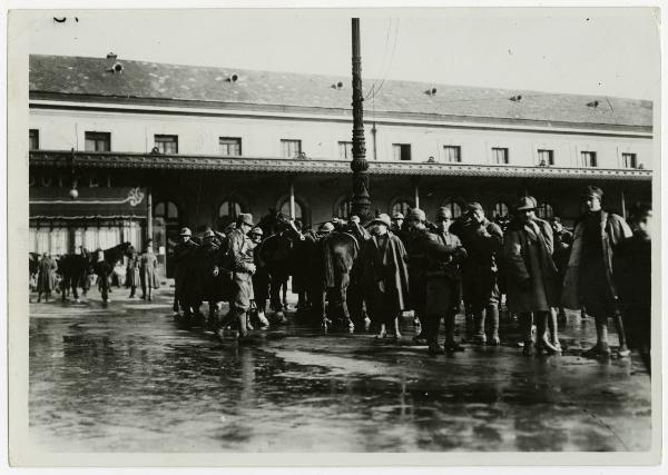
<path fill-rule="evenodd" d="M 362 96 L 362 57 L 360 55 L 360 19 L 352 19 L 353 27 L 353 202 L 352 212 L 362 222 L 367 221 L 371 198 L 369 196 L 369 162 L 364 144 L 364 118 Z"/>

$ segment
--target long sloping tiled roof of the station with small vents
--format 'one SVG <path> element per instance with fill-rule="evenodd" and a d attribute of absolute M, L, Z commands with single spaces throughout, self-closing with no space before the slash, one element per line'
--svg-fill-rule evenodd
<path fill-rule="evenodd" d="M 115 63 L 121 72 L 109 72 Z M 30 56 L 30 92 L 124 99 L 169 99 L 351 109 L 351 79 L 345 77 L 165 65 L 119 58 Z M 229 81 L 232 73 L 238 80 Z M 343 88 L 333 87 L 341 81 Z M 372 85 L 364 80 L 365 90 Z M 434 95 L 426 90 L 436 89 Z M 520 100 L 511 100 L 521 96 Z M 597 102 L 597 107 L 588 103 Z M 371 109 L 371 99 L 365 108 Z M 576 96 L 386 80 L 375 96 L 375 111 L 566 122 L 584 126 L 651 127 L 652 102 L 638 99 Z"/>

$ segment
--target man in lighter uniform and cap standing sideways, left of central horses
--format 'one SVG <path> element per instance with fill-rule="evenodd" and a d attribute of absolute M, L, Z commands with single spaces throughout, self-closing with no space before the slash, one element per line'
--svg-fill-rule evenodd
<path fill-rule="evenodd" d="M 242 212 L 237 217 L 236 228 L 227 237 L 227 259 L 226 267 L 232 270 L 232 289 L 229 300 L 229 313 L 225 316 L 223 326 L 226 324 L 236 325 L 238 337 L 245 338 L 248 335 L 246 325 L 246 313 L 250 308 L 253 295 L 252 276 L 255 274 L 255 244 L 247 236 L 253 229 L 253 215 Z M 218 330 L 218 337 L 223 338 L 223 328 Z"/>

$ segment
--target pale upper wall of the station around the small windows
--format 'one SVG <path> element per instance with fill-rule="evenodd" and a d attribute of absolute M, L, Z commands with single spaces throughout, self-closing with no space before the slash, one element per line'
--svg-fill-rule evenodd
<path fill-rule="evenodd" d="M 30 109 L 30 128 L 39 130 L 40 148 L 50 150 L 84 150 L 86 131 L 105 131 L 114 151 L 149 152 L 155 135 L 176 135 L 179 154 L 216 155 L 218 137 L 240 137 L 244 156 L 281 157 L 281 139 L 299 139 L 311 159 L 338 159 L 338 142 L 352 137 L 352 122 L 343 121 L 39 108 Z M 623 152 L 637 154 L 639 164 L 652 168 L 651 138 L 376 123 L 374 150 L 371 129 L 366 123 L 370 160 L 392 161 L 393 144 L 411 144 L 412 161 L 440 161 L 443 147 L 453 145 L 461 147 L 463 164 L 493 164 L 491 149 L 501 147 L 509 149 L 510 165 L 536 166 L 538 149 L 544 148 L 554 150 L 558 167 L 580 167 L 580 152 L 596 151 L 599 168 L 621 168 Z"/>

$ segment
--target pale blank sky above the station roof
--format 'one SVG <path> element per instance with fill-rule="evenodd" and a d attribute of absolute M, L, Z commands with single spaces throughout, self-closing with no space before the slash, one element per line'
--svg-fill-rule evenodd
<path fill-rule="evenodd" d="M 656 99 L 648 8 L 32 11 L 30 52 Z M 53 16 L 66 17 L 65 22 Z M 78 21 L 75 20 L 78 19 Z M 10 18 L 10 21 L 11 18 Z"/>

